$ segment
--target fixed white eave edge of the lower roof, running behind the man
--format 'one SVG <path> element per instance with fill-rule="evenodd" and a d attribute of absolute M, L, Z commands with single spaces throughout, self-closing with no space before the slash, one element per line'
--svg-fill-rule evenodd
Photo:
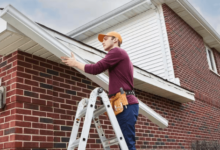
<path fill-rule="evenodd" d="M 47 29 L 46 29 L 47 30 Z M 84 59 L 91 62 L 98 62 L 105 54 L 103 52 L 99 52 L 93 48 L 87 47 L 86 45 L 82 45 L 73 41 L 69 38 L 66 38 L 63 35 L 54 33 L 50 31 L 53 36 L 55 36 L 60 42 L 63 42 L 67 47 L 69 47 L 74 53 L 79 54 Z M 142 81 L 141 85 L 137 85 L 135 88 L 138 88 L 142 91 L 150 92 L 155 95 L 159 95 L 161 97 L 165 97 L 180 103 L 193 102 L 195 101 L 194 93 L 190 92 L 186 89 L 181 88 L 178 85 L 167 82 L 156 75 L 150 74 L 144 70 L 140 70 L 139 68 L 134 66 L 134 78 Z M 149 86 L 151 89 L 158 89 L 154 91 L 150 91 L 150 89 L 145 90 L 143 87 Z"/>

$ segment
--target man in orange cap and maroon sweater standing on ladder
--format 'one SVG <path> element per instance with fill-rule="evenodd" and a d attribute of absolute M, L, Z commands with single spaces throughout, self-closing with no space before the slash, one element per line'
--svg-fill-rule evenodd
<path fill-rule="evenodd" d="M 116 115 L 121 131 L 129 150 L 135 148 L 135 124 L 138 117 L 139 102 L 133 91 L 133 64 L 125 50 L 120 48 L 122 37 L 117 32 L 99 34 L 98 40 L 102 42 L 103 48 L 108 53 L 105 58 L 96 64 L 83 64 L 72 57 L 61 57 L 62 62 L 71 67 L 89 74 L 100 74 L 108 69 L 109 72 L 109 98 L 116 96 L 122 87 L 126 93 L 128 104 L 124 110 Z"/>

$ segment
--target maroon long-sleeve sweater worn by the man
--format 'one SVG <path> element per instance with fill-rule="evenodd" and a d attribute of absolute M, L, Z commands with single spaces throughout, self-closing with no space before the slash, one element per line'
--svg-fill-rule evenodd
<path fill-rule="evenodd" d="M 100 74 L 108 69 L 109 95 L 124 90 L 133 89 L 133 64 L 127 52 L 119 47 L 111 49 L 102 60 L 96 64 L 86 64 L 85 72 Z M 134 95 L 127 95 L 129 104 L 137 104 L 138 99 Z"/>

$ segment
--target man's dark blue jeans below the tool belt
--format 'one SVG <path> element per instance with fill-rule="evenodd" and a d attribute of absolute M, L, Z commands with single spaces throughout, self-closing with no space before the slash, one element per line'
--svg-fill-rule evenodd
<path fill-rule="evenodd" d="M 129 150 L 135 148 L 135 124 L 138 117 L 139 104 L 128 105 L 127 109 L 116 116 Z"/>

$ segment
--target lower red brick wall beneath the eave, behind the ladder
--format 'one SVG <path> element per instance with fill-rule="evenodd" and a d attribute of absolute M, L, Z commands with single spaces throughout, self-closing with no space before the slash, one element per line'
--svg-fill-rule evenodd
<path fill-rule="evenodd" d="M 97 85 L 72 68 L 21 51 L 1 58 L 0 66 L 8 89 L 7 106 L 0 111 L 0 149 L 66 150 L 77 103 Z M 220 110 L 216 107 L 200 100 L 180 104 L 135 91 L 169 120 L 169 127 L 160 129 L 139 115 L 137 149 L 186 149 L 195 139 L 219 139 Z M 103 115 L 100 119 L 107 137 L 114 136 L 109 120 Z M 87 149 L 102 149 L 94 124 Z"/>

